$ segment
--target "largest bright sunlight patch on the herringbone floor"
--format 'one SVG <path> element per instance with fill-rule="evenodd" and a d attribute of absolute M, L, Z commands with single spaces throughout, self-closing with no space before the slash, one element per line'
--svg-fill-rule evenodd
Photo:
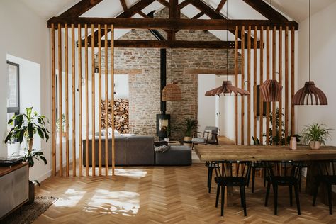
<path fill-rule="evenodd" d="M 131 191 L 96 190 L 84 211 L 88 213 L 136 215 L 140 208 L 139 194 Z"/>

